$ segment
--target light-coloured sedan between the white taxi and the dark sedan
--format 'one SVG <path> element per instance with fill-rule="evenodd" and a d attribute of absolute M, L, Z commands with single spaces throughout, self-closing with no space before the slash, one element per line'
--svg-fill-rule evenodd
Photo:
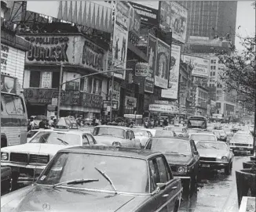
<path fill-rule="evenodd" d="M 99 144 L 106 146 L 141 148 L 141 142 L 131 128 L 100 125 L 93 129 L 93 136 Z"/>

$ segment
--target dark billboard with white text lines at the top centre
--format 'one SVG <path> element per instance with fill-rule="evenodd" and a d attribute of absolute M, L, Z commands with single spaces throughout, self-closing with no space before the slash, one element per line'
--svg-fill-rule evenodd
<path fill-rule="evenodd" d="M 157 9 L 152 9 L 148 6 L 140 5 L 135 2 L 129 3 L 141 16 L 141 23 L 147 26 L 158 26 L 159 12 Z"/>

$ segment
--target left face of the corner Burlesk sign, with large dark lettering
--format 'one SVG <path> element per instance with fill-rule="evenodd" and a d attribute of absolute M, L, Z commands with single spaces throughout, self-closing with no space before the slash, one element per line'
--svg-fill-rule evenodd
<path fill-rule="evenodd" d="M 67 49 L 68 41 L 67 37 L 27 37 L 27 41 L 31 42 L 30 49 L 27 52 L 28 60 L 37 61 L 63 61 L 68 62 Z M 47 45 L 50 45 L 47 47 Z"/>

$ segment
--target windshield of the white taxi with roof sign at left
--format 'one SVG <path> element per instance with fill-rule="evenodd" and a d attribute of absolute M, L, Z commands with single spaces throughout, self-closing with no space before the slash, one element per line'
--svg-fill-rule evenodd
<path fill-rule="evenodd" d="M 30 143 L 47 143 L 56 145 L 81 145 L 80 135 L 58 131 L 41 131 Z"/>

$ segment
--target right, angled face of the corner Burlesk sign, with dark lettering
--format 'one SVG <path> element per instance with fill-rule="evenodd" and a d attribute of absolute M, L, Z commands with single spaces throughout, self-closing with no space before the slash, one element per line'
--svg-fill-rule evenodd
<path fill-rule="evenodd" d="M 85 41 L 82 50 L 82 64 L 92 66 L 96 70 L 103 70 L 104 52 L 90 41 Z"/>

